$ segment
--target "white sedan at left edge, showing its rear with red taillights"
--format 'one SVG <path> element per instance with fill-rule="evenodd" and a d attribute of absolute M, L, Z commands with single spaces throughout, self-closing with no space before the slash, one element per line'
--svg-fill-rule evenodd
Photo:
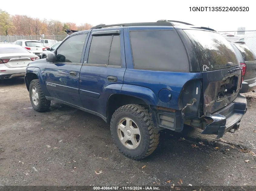
<path fill-rule="evenodd" d="M 9 43 L 0 43 L 0 79 L 24 77 L 29 62 L 39 59 L 27 49 Z"/>

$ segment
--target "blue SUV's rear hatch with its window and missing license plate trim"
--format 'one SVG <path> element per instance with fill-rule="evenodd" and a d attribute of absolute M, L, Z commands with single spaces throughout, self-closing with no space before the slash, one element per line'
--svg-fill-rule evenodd
<path fill-rule="evenodd" d="M 209 115 L 238 95 L 242 74 L 232 46 L 219 33 L 185 29 L 197 54 L 203 76 L 203 111 Z"/>

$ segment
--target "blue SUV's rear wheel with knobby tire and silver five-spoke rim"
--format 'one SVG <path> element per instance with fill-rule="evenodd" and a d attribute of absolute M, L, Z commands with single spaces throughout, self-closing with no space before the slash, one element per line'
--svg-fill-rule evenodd
<path fill-rule="evenodd" d="M 117 147 L 132 159 L 147 157 L 159 143 L 159 132 L 154 128 L 148 109 L 141 105 L 119 107 L 112 115 L 110 128 Z"/>

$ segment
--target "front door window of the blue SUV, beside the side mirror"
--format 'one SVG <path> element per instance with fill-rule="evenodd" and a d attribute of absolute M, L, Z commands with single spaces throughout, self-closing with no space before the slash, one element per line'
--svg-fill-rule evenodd
<path fill-rule="evenodd" d="M 87 34 L 69 37 L 58 47 L 57 62 L 80 63 Z"/>

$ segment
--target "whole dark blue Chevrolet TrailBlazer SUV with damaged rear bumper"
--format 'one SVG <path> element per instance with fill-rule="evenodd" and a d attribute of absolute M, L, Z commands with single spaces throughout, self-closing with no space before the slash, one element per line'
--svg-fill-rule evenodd
<path fill-rule="evenodd" d="M 32 107 L 51 100 L 110 123 L 118 148 L 145 158 L 159 130 L 235 131 L 247 110 L 240 63 L 215 30 L 180 21 L 98 25 L 70 34 L 25 75 Z M 186 24 L 186 25 L 185 25 Z"/>

